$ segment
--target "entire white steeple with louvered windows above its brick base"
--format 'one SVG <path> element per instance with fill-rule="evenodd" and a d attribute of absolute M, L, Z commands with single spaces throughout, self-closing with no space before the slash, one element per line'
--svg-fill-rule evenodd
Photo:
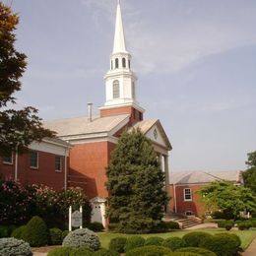
<path fill-rule="evenodd" d="M 105 103 L 103 109 L 132 106 L 144 112 L 136 100 L 137 77 L 131 70 L 131 58 L 132 56 L 126 50 L 120 0 L 118 0 L 110 69 L 104 76 Z"/>

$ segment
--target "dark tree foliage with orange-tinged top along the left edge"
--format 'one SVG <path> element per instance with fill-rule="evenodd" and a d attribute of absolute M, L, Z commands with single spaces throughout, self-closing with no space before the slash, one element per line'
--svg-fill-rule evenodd
<path fill-rule="evenodd" d="M 27 56 L 15 49 L 18 23 L 18 16 L 0 3 L 0 155 L 9 155 L 17 147 L 23 152 L 32 141 L 54 135 L 42 127 L 37 109 L 10 108 L 16 102 L 14 94 L 21 90 L 20 79 L 27 67 Z"/>

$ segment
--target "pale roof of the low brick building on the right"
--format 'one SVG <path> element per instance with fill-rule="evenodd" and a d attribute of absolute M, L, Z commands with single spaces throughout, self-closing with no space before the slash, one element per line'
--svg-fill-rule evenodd
<path fill-rule="evenodd" d="M 169 184 L 200 184 L 211 183 L 213 181 L 226 180 L 243 183 L 241 171 L 190 171 L 190 172 L 171 172 L 169 174 Z"/>

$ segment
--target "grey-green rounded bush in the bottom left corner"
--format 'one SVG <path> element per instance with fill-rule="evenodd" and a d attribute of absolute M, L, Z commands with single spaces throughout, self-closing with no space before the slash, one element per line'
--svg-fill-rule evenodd
<path fill-rule="evenodd" d="M 4 256 L 31 256 L 32 250 L 28 242 L 14 237 L 0 239 L 0 255 Z"/>

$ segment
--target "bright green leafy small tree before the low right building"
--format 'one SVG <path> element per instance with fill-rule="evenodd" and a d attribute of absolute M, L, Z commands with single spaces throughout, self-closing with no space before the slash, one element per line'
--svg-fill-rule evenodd
<path fill-rule="evenodd" d="M 256 198 L 249 188 L 229 181 L 214 181 L 200 193 L 208 210 L 223 210 L 236 217 L 241 211 L 254 212 Z"/>

